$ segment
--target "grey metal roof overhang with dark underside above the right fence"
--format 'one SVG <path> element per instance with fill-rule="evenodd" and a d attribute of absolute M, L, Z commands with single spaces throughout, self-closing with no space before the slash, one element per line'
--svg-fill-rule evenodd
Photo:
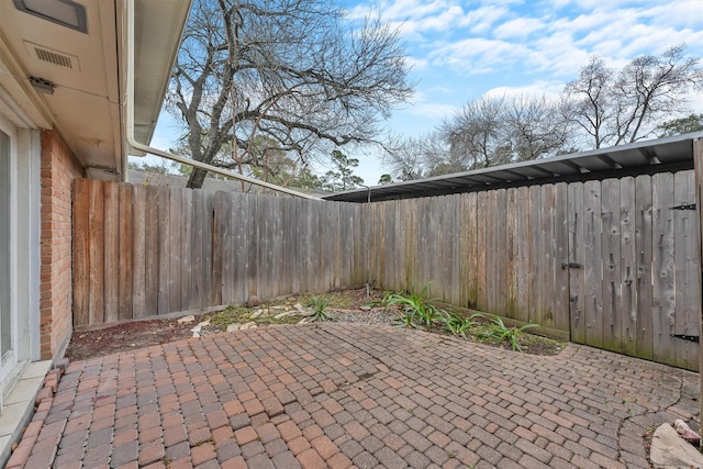
<path fill-rule="evenodd" d="M 703 132 L 599 148 L 554 158 L 456 172 L 323 197 L 343 202 L 412 199 L 520 186 L 618 178 L 693 168 L 693 141 Z"/>

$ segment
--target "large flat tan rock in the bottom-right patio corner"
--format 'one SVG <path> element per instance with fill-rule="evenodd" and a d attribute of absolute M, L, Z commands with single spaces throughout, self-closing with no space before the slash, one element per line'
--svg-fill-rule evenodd
<path fill-rule="evenodd" d="M 649 458 L 657 469 L 703 468 L 703 455 L 681 438 L 668 423 L 660 425 L 655 432 Z"/>

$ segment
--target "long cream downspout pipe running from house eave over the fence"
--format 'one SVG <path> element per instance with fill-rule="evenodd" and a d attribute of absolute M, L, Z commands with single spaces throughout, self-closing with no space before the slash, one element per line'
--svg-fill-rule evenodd
<path fill-rule="evenodd" d="M 258 179 L 248 178 L 246 176 L 237 175 L 236 172 L 232 172 L 216 166 L 208 165 L 205 163 L 197 161 L 190 158 L 183 158 L 182 156 L 174 155 L 172 153 L 164 152 L 161 149 L 136 142 L 136 139 L 134 138 L 134 0 L 127 0 L 127 10 L 126 141 L 130 147 L 140 152 L 148 153 L 150 155 L 159 156 L 161 158 L 170 159 L 171 161 L 180 163 L 182 165 L 189 165 L 194 168 L 205 169 L 208 171 L 238 179 L 255 186 L 265 187 L 277 192 L 283 192 L 289 196 L 300 197 L 302 199 L 321 200 L 320 198 L 314 196 L 298 192 L 292 189 L 272 185 L 270 182 L 260 181 Z M 123 170 L 126 171 L 126 164 L 123 164 Z"/>

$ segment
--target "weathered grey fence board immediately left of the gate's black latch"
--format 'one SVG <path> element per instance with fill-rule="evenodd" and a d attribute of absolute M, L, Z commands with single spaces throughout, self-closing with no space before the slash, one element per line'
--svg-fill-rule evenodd
<path fill-rule="evenodd" d="M 555 185 L 555 256 L 551 269 L 555 279 L 554 328 L 569 331 L 569 276 L 561 268 L 569 257 L 568 188 Z"/>

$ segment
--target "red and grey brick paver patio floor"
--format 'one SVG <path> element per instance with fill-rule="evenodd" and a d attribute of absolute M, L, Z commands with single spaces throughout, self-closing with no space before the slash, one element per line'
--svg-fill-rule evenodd
<path fill-rule="evenodd" d="M 23 460 L 643 468 L 643 434 L 696 415 L 698 387 L 576 345 L 535 357 L 390 327 L 277 326 L 71 362 Z"/>

